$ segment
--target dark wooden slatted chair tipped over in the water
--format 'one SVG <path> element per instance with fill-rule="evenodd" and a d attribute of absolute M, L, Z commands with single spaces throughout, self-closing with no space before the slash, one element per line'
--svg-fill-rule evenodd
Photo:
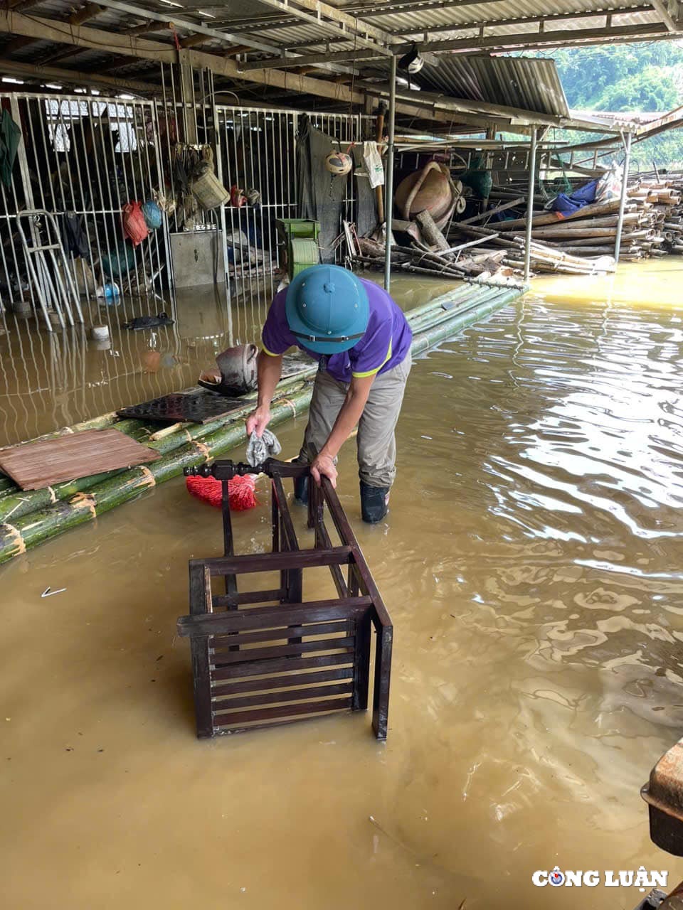
<path fill-rule="evenodd" d="M 234 555 L 228 481 L 260 472 L 271 479 L 272 550 Z M 225 555 L 189 561 L 189 616 L 178 619 L 192 652 L 197 735 L 240 733 L 311 715 L 365 711 L 376 633 L 372 729 L 386 739 L 392 622 L 331 483 L 321 487 L 306 465 L 269 459 L 257 468 L 232 461 L 186 469 L 223 484 Z M 314 546 L 301 550 L 283 478 L 309 478 Z M 327 507 L 340 539 L 333 546 Z M 304 572 L 328 567 L 336 597 L 303 600 Z M 343 571 L 345 567 L 346 571 Z M 240 576 L 278 572 L 279 587 L 239 591 Z M 224 593 L 212 581 L 222 579 Z"/>

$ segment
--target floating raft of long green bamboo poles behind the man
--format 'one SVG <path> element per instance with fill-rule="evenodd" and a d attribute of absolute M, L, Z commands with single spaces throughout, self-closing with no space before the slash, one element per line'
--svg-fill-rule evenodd
<path fill-rule="evenodd" d="M 473 288 L 470 285 L 436 298 L 408 315 L 413 329 L 413 353 L 421 353 L 443 339 L 452 338 L 477 319 L 519 297 L 517 288 Z M 301 370 L 282 381 L 271 406 L 272 426 L 308 410 L 317 366 Z M 245 407 L 223 420 L 204 425 L 176 424 L 158 430 L 138 420 L 117 420 L 104 414 L 83 421 L 64 432 L 115 427 L 157 450 L 161 458 L 129 470 L 109 471 L 60 484 L 52 490 L 18 490 L 12 480 L 0 476 L 0 563 L 75 528 L 98 515 L 132 501 L 182 473 L 183 468 L 213 460 L 246 441 L 244 418 L 254 407 L 253 396 Z M 33 440 L 31 440 L 33 441 Z"/>

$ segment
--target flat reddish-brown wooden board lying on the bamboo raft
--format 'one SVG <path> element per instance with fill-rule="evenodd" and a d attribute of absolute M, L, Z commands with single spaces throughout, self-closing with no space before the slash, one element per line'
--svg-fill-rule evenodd
<path fill-rule="evenodd" d="M 43 490 L 56 483 L 158 458 L 158 452 L 118 430 L 85 430 L 54 440 L 0 449 L 0 468 L 22 490 Z"/>

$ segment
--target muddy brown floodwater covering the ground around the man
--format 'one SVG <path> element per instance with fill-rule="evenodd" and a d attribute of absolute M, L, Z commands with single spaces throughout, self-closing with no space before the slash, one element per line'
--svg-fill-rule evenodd
<path fill-rule="evenodd" d="M 362 714 L 196 740 L 174 632 L 219 513 L 182 479 L 1 568 L 3 907 L 633 910 L 635 887 L 532 875 L 642 865 L 678 884 L 639 789 L 683 730 L 681 278 L 667 259 L 539 280 L 417 360 L 379 527 L 342 450 L 394 623 L 386 743 Z M 406 306 L 441 290 L 396 286 Z M 211 306 L 181 343 L 60 349 L 61 387 L 25 342 L 0 442 L 190 385 L 225 331 Z M 285 456 L 304 420 L 278 430 Z M 236 516 L 242 551 L 267 545 L 262 481 L 260 500 Z"/>

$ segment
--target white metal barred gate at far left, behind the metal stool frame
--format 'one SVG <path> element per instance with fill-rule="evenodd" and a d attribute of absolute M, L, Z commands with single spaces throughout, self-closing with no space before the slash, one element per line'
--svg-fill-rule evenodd
<path fill-rule="evenodd" d="M 0 185 L 2 318 L 7 309 L 36 309 L 36 288 L 16 231 L 22 209 L 56 216 L 89 321 L 99 320 L 98 300 L 119 303 L 117 316 L 126 319 L 158 308 L 161 288 L 168 285 L 167 232 L 163 226 L 151 230 L 134 248 L 122 228 L 127 203 L 164 201 L 154 103 L 77 94 L 13 94 L 0 96 L 0 103 L 22 133 L 11 184 Z M 38 219 L 33 243 L 45 237 Z"/>

